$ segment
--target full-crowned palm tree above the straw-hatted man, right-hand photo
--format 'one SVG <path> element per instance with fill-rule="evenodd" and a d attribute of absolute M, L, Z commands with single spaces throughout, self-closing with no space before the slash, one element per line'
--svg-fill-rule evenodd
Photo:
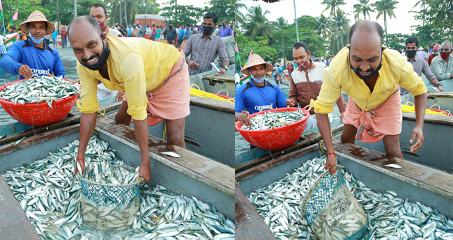
<path fill-rule="evenodd" d="M 263 37 L 266 40 L 270 40 L 274 37 L 274 26 L 272 22 L 268 21 L 267 15 L 269 10 L 264 11 L 261 6 L 252 6 L 249 8 L 247 15 L 245 16 L 245 34 L 250 40 L 256 40 L 256 37 Z"/>

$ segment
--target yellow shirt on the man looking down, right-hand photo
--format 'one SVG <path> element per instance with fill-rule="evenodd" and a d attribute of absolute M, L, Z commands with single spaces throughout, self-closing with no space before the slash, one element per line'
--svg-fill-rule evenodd
<path fill-rule="evenodd" d="M 382 67 L 373 93 L 364 80 L 360 79 L 349 65 L 349 49 L 344 47 L 323 72 L 323 86 L 318 99 L 310 102 L 316 113 L 328 114 L 341 94 L 341 89 L 351 96 L 360 109 L 369 111 L 382 104 L 399 86 L 406 88 L 415 96 L 427 93 L 422 78 L 413 70 L 406 58 L 398 51 L 385 49 Z"/>

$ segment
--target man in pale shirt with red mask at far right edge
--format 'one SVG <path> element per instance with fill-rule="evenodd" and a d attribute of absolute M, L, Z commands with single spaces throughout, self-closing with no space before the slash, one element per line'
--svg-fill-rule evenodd
<path fill-rule="evenodd" d="M 440 45 L 440 54 L 431 61 L 431 72 L 439 81 L 453 79 L 452 42 L 446 40 Z"/>

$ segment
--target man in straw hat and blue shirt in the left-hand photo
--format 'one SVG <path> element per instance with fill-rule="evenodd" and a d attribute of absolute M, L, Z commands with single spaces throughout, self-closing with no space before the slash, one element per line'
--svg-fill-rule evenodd
<path fill-rule="evenodd" d="M 29 33 L 30 38 L 11 45 L 1 57 L 0 67 L 9 74 L 20 74 L 21 79 L 31 79 L 33 74 L 64 77 L 66 72 L 59 52 L 44 42 L 45 35 L 53 33 L 55 27 L 43 13 L 34 11 L 19 28 Z"/>

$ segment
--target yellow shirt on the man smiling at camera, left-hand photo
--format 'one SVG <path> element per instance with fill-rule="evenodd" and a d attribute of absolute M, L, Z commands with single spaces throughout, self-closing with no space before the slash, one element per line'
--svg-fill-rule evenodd
<path fill-rule="evenodd" d="M 181 58 L 173 46 L 145 38 L 117 38 L 107 33 L 110 50 L 107 70 L 110 81 L 99 71 L 92 71 L 77 61 L 82 101 L 77 101 L 81 113 L 99 111 L 98 79 L 110 90 L 121 90 L 128 97 L 128 114 L 134 120 L 147 118 L 146 93 L 156 90 L 169 76 L 171 67 Z"/>

